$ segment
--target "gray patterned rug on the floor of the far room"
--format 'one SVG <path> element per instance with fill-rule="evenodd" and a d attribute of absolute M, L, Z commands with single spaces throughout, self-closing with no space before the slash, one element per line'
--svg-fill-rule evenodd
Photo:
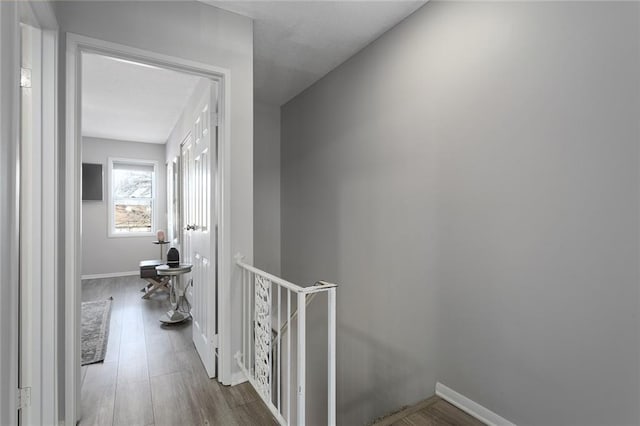
<path fill-rule="evenodd" d="M 112 300 L 113 297 L 82 302 L 82 365 L 104 361 L 109 340 Z"/>

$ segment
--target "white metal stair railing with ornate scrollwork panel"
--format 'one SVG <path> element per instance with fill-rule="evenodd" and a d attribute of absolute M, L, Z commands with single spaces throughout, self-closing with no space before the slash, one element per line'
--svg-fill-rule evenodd
<path fill-rule="evenodd" d="M 241 258 L 236 264 L 242 272 L 242 346 L 235 358 L 281 425 L 305 425 L 307 306 L 316 295 L 327 294 L 327 424 L 335 425 L 337 285 L 318 281 L 302 287 Z"/>

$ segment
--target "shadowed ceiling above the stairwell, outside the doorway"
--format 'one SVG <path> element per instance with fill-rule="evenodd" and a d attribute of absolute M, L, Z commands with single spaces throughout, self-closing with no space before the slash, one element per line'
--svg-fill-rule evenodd
<path fill-rule="evenodd" d="M 217 1 L 254 19 L 254 96 L 283 105 L 426 1 Z"/>

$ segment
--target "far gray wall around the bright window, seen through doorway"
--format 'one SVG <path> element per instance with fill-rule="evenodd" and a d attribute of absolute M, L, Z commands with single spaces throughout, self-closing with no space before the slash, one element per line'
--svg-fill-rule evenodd
<path fill-rule="evenodd" d="M 83 138 L 82 161 L 102 164 L 102 201 L 82 202 L 82 275 L 109 274 L 138 270 L 145 259 L 159 259 L 160 250 L 152 237 L 109 237 L 109 157 L 157 162 L 156 227 L 167 229 L 167 177 L 165 145 Z M 165 249 L 167 246 L 165 246 Z"/>

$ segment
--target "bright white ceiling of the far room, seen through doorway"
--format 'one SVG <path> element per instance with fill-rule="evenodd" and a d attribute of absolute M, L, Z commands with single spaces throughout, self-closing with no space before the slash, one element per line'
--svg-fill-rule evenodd
<path fill-rule="evenodd" d="M 82 56 L 83 136 L 165 143 L 200 77 Z"/>

